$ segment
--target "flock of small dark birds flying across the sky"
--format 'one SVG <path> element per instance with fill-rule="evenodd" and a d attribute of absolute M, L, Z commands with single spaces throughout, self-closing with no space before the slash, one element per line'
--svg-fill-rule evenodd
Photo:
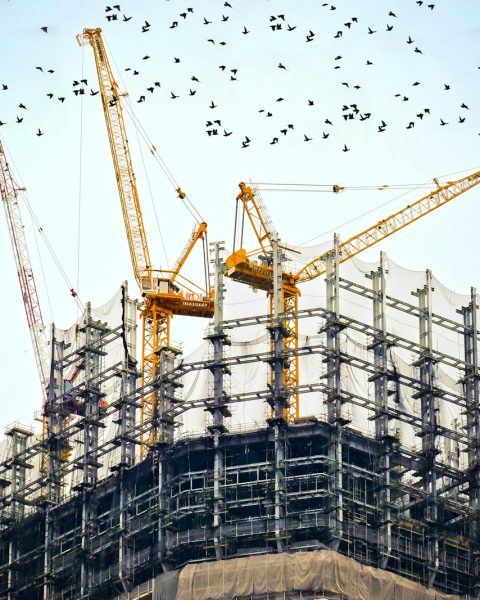
<path fill-rule="evenodd" d="M 423 0 L 414 0 L 414 1 L 416 2 L 416 4 L 418 5 L 419 8 L 423 7 L 423 9 L 426 9 L 427 11 L 433 11 L 435 9 L 435 4 L 427 4 L 427 2 L 424 2 Z M 331 13 L 334 13 L 337 10 L 337 7 L 335 5 L 333 5 L 331 3 L 327 3 L 327 2 L 321 3 L 320 7 L 321 7 L 321 9 L 329 11 Z M 216 19 L 216 21 L 218 23 L 226 23 L 227 21 L 235 20 L 235 8 L 228 1 L 223 2 L 223 6 L 222 6 L 222 9 L 220 10 L 220 13 L 221 14 L 219 14 L 218 18 Z M 393 10 L 385 11 L 384 16 L 385 16 L 385 20 L 387 21 L 385 24 L 384 33 L 388 34 L 389 32 L 392 32 L 394 30 L 394 28 L 396 27 L 396 22 L 398 21 L 399 16 Z M 132 19 L 134 19 L 133 16 L 129 16 L 129 15 L 125 14 L 125 12 L 122 10 L 122 7 L 120 4 L 105 6 L 104 18 L 107 23 L 114 23 L 114 22 L 126 23 L 126 22 L 129 22 Z M 227 44 L 230 43 L 229 41 L 219 40 L 219 39 L 215 39 L 213 36 L 209 36 L 208 27 L 210 25 L 212 25 L 212 23 L 214 22 L 215 19 L 213 17 L 207 18 L 203 15 L 197 16 L 197 9 L 194 9 L 193 7 L 188 7 L 185 10 L 183 10 L 182 12 L 180 12 L 178 14 L 178 17 L 176 17 L 167 26 L 169 27 L 169 29 L 181 29 L 183 22 L 185 22 L 187 19 L 195 19 L 195 18 L 197 19 L 198 27 L 206 28 L 206 31 L 207 31 L 207 34 L 205 36 L 206 44 L 211 44 L 212 46 L 217 46 L 217 45 L 218 46 L 226 46 Z M 266 25 L 273 33 L 284 31 L 287 34 L 293 34 L 293 32 L 296 31 L 296 34 L 294 34 L 294 35 L 298 36 L 300 33 L 300 26 L 298 24 L 295 24 L 293 21 L 294 21 L 293 15 L 287 16 L 286 14 L 272 14 L 272 15 L 269 15 L 268 22 L 266 23 Z M 344 21 L 344 19 L 342 19 L 342 22 L 343 21 Z M 351 18 L 349 18 L 345 22 L 343 22 L 342 27 L 340 27 L 340 28 L 337 28 L 337 27 L 338 27 L 338 25 L 332 29 L 332 33 L 331 33 L 332 48 L 335 48 L 335 44 L 338 44 L 338 42 L 336 42 L 335 40 L 342 38 L 344 35 L 347 34 L 347 32 L 349 32 L 353 28 L 363 28 L 363 31 L 365 32 L 366 36 L 380 35 L 382 33 L 379 30 L 379 28 L 374 29 L 367 23 L 362 23 L 361 19 L 359 19 L 356 16 L 352 16 Z M 138 23 L 137 31 L 141 34 L 148 34 L 150 31 L 154 30 L 154 28 L 155 27 L 149 21 L 142 20 L 141 23 Z M 48 33 L 49 33 L 48 25 L 42 26 L 40 29 L 44 34 L 48 35 Z M 253 26 L 247 27 L 244 24 L 240 24 L 240 23 L 238 24 L 238 34 L 239 35 L 241 34 L 242 36 L 248 36 L 251 33 L 252 29 L 253 29 Z M 313 29 L 313 26 L 312 26 L 312 29 Z M 312 29 L 308 29 L 308 31 L 301 33 L 302 37 L 303 37 L 303 35 L 305 36 L 304 43 L 306 43 L 306 44 L 312 44 L 314 41 L 316 41 L 316 39 L 318 39 L 317 33 L 315 31 L 313 31 Z M 336 29 L 336 31 L 334 31 L 335 29 Z M 418 60 L 422 60 L 425 53 L 424 53 L 423 49 L 419 48 L 419 46 L 417 45 L 415 40 L 410 35 L 404 40 L 404 44 L 405 44 L 406 49 L 410 49 L 410 51 L 413 52 L 414 55 L 415 54 L 418 55 Z M 341 50 L 340 50 L 340 52 L 341 52 Z M 142 57 L 142 60 L 144 60 L 144 61 L 151 60 L 151 56 L 149 56 L 148 54 L 144 54 Z M 179 56 L 173 57 L 174 64 L 179 64 L 181 62 L 182 62 L 182 59 Z M 343 55 L 338 53 L 335 56 L 335 59 L 333 61 L 332 69 L 333 70 L 341 69 L 343 62 L 344 62 Z M 375 63 L 374 63 L 374 60 L 371 60 L 370 58 L 368 58 L 365 60 L 364 65 L 365 65 L 365 67 L 368 67 L 368 68 L 372 68 L 372 67 L 374 68 Z M 33 68 L 48 77 L 53 77 L 55 74 L 55 69 L 50 66 L 34 65 Z M 289 71 L 290 69 L 288 66 L 288 60 L 285 60 L 284 58 L 282 58 L 282 60 L 280 60 L 277 63 L 276 68 L 279 71 Z M 480 69 L 480 67 L 478 67 L 478 68 Z M 226 75 L 226 81 L 228 81 L 228 82 L 238 81 L 238 75 L 239 75 L 239 70 L 240 70 L 240 68 L 238 66 L 230 65 L 229 67 L 227 67 L 227 65 L 221 64 L 221 65 L 218 65 L 218 69 Z M 132 76 L 138 77 L 141 73 L 141 68 L 139 66 L 137 66 L 137 67 L 128 66 L 128 67 L 124 68 L 124 71 L 129 73 Z M 203 79 L 203 77 L 202 77 L 202 79 Z M 180 81 L 178 82 L 178 85 L 180 85 Z M 201 88 L 201 85 L 202 84 L 201 84 L 201 80 L 200 80 L 200 75 L 192 74 L 190 76 L 190 81 L 186 86 L 188 88 L 188 91 L 185 91 L 185 93 L 183 93 L 183 92 L 177 93 L 174 90 L 168 90 L 166 92 L 166 94 L 168 94 L 168 95 L 165 96 L 165 94 L 163 94 L 163 96 L 162 96 L 163 101 L 167 101 L 167 99 L 176 101 L 182 97 L 190 97 L 190 98 L 195 97 L 195 96 L 197 96 L 197 92 Z M 399 102 L 409 102 L 410 94 L 413 94 L 414 93 L 413 90 L 415 90 L 420 85 L 421 85 L 421 82 L 414 81 L 411 83 L 412 90 L 410 93 L 409 92 L 406 92 L 406 93 L 398 92 L 398 93 L 394 94 L 394 98 L 396 99 L 396 101 L 399 101 Z M 355 92 L 362 89 L 362 86 L 360 84 L 358 84 L 358 83 L 354 84 L 349 81 L 340 82 L 340 86 L 347 88 L 349 91 L 355 91 Z M 53 92 L 48 91 L 45 93 L 45 96 L 50 101 L 53 101 L 53 102 L 56 101 L 56 102 L 59 102 L 60 104 L 63 104 L 64 102 L 67 101 L 67 99 L 69 99 L 71 97 L 74 98 L 74 97 L 81 97 L 81 96 L 85 96 L 85 95 L 96 96 L 99 93 L 99 91 L 96 89 L 93 89 L 93 87 L 94 86 L 89 85 L 88 80 L 86 78 L 82 77 L 82 78 L 73 80 L 72 89 L 71 89 L 70 93 L 56 95 Z M 153 81 L 151 83 L 147 83 L 145 85 L 144 91 L 142 91 L 140 93 L 136 102 L 138 104 L 145 103 L 145 102 L 147 102 L 147 99 L 149 99 L 149 97 L 151 97 L 156 91 L 164 90 L 164 88 L 165 88 L 165 86 L 162 85 L 162 83 L 158 80 Z M 451 85 L 449 83 L 439 84 L 438 90 L 434 90 L 434 92 L 435 93 L 440 92 L 440 90 L 442 90 L 444 92 L 448 92 L 451 90 Z M 8 82 L 2 83 L 0 81 L 0 94 L 10 94 L 10 93 L 11 93 L 11 91 L 10 91 Z M 340 94 L 338 94 L 338 95 L 340 96 Z M 198 94 L 198 96 L 201 96 L 201 94 Z M 359 98 L 360 97 L 361 96 L 359 96 Z M 0 96 L 0 107 L 4 104 L 3 100 L 4 99 Z M 285 98 L 282 95 L 279 95 L 274 102 L 281 103 L 284 101 L 285 101 Z M 392 99 L 392 101 L 393 101 L 393 99 Z M 316 103 L 318 104 L 317 100 L 312 99 L 312 98 L 306 98 L 305 103 L 304 103 L 304 110 L 308 110 L 310 107 L 315 106 Z M 341 106 L 341 109 L 340 109 L 340 106 Z M 19 98 L 16 99 L 16 107 L 18 109 L 17 110 L 18 114 L 16 115 L 16 120 L 15 121 L 12 121 L 12 119 L 9 119 L 9 120 L 10 120 L 10 122 L 15 123 L 16 125 L 22 125 L 22 124 L 24 124 L 24 122 L 28 121 L 28 119 L 26 118 L 26 115 L 28 114 L 28 108 L 27 108 L 25 102 L 23 102 Z M 227 127 L 223 123 L 223 121 L 224 121 L 223 117 L 219 116 L 218 109 L 219 109 L 218 103 L 215 100 L 211 100 L 209 104 L 205 103 L 205 113 L 207 116 L 205 118 L 205 125 L 204 125 L 203 129 L 204 129 L 206 135 L 209 138 L 216 137 L 216 136 L 223 136 L 225 138 L 229 138 L 230 136 L 234 136 L 234 139 L 235 138 L 237 139 L 241 148 L 249 148 L 251 146 L 251 144 L 253 143 L 252 140 L 255 136 L 251 132 L 249 132 L 248 134 L 245 134 L 244 132 L 242 132 L 240 134 L 234 130 L 235 128 Z M 326 140 L 326 139 L 330 138 L 332 136 L 332 132 L 334 131 L 333 127 L 336 124 L 336 122 L 338 122 L 338 121 L 349 123 L 351 121 L 364 122 L 364 121 L 372 120 L 375 122 L 375 127 L 376 127 L 376 131 L 378 132 L 378 134 L 382 134 L 388 130 L 389 123 L 387 123 L 384 118 L 376 117 L 372 113 L 372 109 L 369 109 L 369 110 L 363 109 L 361 107 L 361 100 L 358 100 L 356 102 L 351 102 L 350 100 L 348 102 L 341 102 L 341 103 L 339 103 L 339 109 L 340 110 L 335 115 L 335 117 L 333 117 L 332 115 L 325 116 L 325 118 L 321 122 L 321 127 L 320 127 L 321 132 L 319 131 L 318 134 L 317 134 L 317 132 L 310 133 L 310 132 L 302 131 L 301 136 L 303 136 L 303 141 L 305 143 L 309 143 L 317 138 L 320 140 Z M 466 118 L 467 118 L 466 115 L 468 114 L 466 111 L 470 110 L 468 104 L 466 102 L 461 102 L 456 107 L 456 110 L 457 110 L 458 118 L 455 117 L 455 123 L 456 124 L 465 123 Z M 216 112 L 210 113 L 209 111 L 216 111 Z M 269 108 L 258 107 L 258 113 L 260 115 L 264 116 L 265 118 L 272 118 L 274 116 L 274 108 L 273 108 L 273 106 L 270 106 Z M 214 115 L 214 116 L 211 116 L 211 115 Z M 412 130 L 415 128 L 415 126 L 417 124 L 421 123 L 424 119 L 429 119 L 429 118 L 432 119 L 430 107 L 422 107 L 421 109 L 419 109 L 419 108 L 414 109 L 412 111 L 411 118 L 403 125 L 403 127 L 406 130 Z M 443 116 L 439 117 L 438 125 L 440 127 L 445 127 L 450 124 L 453 125 L 453 121 L 452 121 L 451 117 L 447 117 L 447 118 L 449 118 L 449 120 L 446 120 Z M 7 124 L 8 124 L 7 120 L 2 119 L 2 115 L 0 114 L 0 127 L 3 127 Z M 283 140 L 285 137 L 290 135 L 293 131 L 296 131 L 294 123 L 282 124 L 278 128 L 278 133 L 276 135 L 274 135 L 271 140 L 264 140 L 264 143 L 272 145 L 272 146 L 276 145 L 276 144 L 280 144 L 281 140 Z M 36 128 L 35 134 L 37 137 L 39 137 L 39 138 L 42 137 L 44 135 L 44 133 L 45 133 L 45 131 L 43 131 L 41 129 L 41 127 Z M 302 138 L 300 138 L 300 139 L 302 139 Z M 343 140 L 341 143 L 339 143 L 339 150 L 342 150 L 343 152 L 349 152 L 350 149 L 351 148 Z"/>

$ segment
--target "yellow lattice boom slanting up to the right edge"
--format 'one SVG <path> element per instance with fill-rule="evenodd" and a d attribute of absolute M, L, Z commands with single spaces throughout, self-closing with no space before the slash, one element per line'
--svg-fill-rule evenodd
<path fill-rule="evenodd" d="M 472 189 L 480 183 L 480 171 L 476 171 L 457 181 L 449 181 L 443 186 L 439 184 L 437 179 L 434 179 L 434 181 L 437 184 L 436 190 L 341 243 L 339 246 L 340 262 L 349 260 L 389 235 L 410 225 L 410 223 L 428 215 L 436 208 L 450 202 L 450 200 L 460 196 L 460 194 Z M 325 252 L 305 265 L 294 275 L 295 283 L 310 281 L 311 279 L 315 279 L 315 277 L 323 275 L 326 270 L 328 255 L 329 252 Z"/>

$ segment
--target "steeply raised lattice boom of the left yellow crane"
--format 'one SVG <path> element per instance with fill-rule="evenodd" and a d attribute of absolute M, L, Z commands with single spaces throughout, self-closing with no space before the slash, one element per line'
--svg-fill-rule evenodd
<path fill-rule="evenodd" d="M 126 94 L 121 94 L 118 90 L 103 44 L 102 30 L 100 28 L 84 29 L 83 34 L 77 36 L 77 41 L 81 46 L 90 44 L 95 55 L 105 123 L 122 204 L 133 272 L 140 289 L 142 289 L 142 278 L 148 277 L 152 263 L 120 102 L 120 97 Z"/>

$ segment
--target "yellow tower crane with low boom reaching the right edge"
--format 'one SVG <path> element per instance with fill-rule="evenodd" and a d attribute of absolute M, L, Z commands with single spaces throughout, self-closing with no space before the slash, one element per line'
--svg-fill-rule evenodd
<path fill-rule="evenodd" d="M 436 189 L 432 190 L 419 200 L 408 204 L 403 209 L 395 212 L 386 219 L 378 221 L 374 225 L 367 227 L 362 232 L 350 237 L 345 242 L 339 244 L 339 262 L 345 262 L 350 258 L 363 252 L 367 248 L 387 238 L 388 236 L 400 231 L 407 225 L 418 221 L 422 217 L 430 214 L 440 206 L 444 206 L 457 196 L 474 188 L 480 183 L 480 171 L 462 177 L 455 181 L 448 181 L 441 185 L 438 179 L 433 180 Z M 235 222 L 238 222 L 239 206 L 243 208 L 242 227 L 244 215 L 246 214 L 252 225 L 253 231 L 260 245 L 262 255 L 258 255 L 258 249 L 247 252 L 245 248 L 240 247 L 226 260 L 226 275 L 234 281 L 239 281 L 254 289 L 266 291 L 270 299 L 270 311 L 272 310 L 273 295 L 273 268 L 271 266 L 272 240 L 274 229 L 271 219 L 261 201 L 258 192 L 245 183 L 240 183 L 240 193 L 237 196 L 237 209 Z M 335 192 L 343 188 L 337 187 Z M 236 235 L 234 235 L 235 242 Z M 240 236 L 240 246 L 243 245 L 243 230 Z M 284 350 L 292 348 L 298 350 L 298 321 L 292 315 L 298 311 L 298 297 L 300 290 L 298 284 L 311 281 L 316 277 L 323 275 L 326 271 L 327 258 L 331 251 L 315 257 L 296 273 L 282 271 L 282 307 L 283 307 L 283 328 L 285 330 L 283 338 Z M 298 357 L 294 352 L 293 359 L 284 368 L 283 383 L 290 394 L 288 408 L 285 410 L 284 417 L 291 422 L 298 418 L 299 403 L 298 394 Z M 292 391 L 293 390 L 293 391 Z"/>

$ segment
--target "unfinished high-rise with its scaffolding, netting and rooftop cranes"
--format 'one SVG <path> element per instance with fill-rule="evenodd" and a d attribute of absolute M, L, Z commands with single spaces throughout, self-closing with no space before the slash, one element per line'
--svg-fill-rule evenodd
<path fill-rule="evenodd" d="M 242 183 L 240 242 L 228 257 L 209 247 L 199 291 L 180 270 L 206 225 L 174 269 L 152 268 L 100 30 L 80 42 L 94 50 L 141 300 L 124 283 L 47 335 L 0 146 L 46 390 L 41 432 L 14 424 L 0 447 L 0 598 L 479 599 L 476 291 L 383 253 L 354 257 L 480 172 L 436 181 L 333 249 L 282 245 Z M 209 319 L 188 356 L 170 339 L 174 315 Z"/>

